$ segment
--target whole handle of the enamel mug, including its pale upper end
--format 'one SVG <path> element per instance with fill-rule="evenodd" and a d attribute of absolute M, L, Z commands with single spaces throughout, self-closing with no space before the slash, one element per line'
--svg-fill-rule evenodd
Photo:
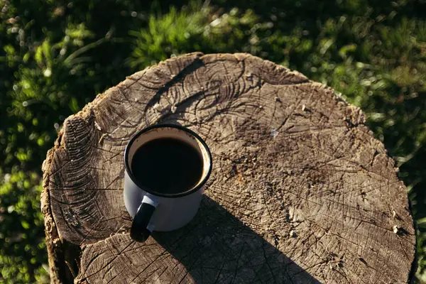
<path fill-rule="evenodd" d="M 154 229 L 150 223 L 158 201 L 153 196 L 145 195 L 131 223 L 130 237 L 135 241 L 146 241 Z"/>

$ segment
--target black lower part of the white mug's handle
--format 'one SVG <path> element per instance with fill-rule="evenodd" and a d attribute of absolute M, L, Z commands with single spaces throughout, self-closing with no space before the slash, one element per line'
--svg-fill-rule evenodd
<path fill-rule="evenodd" d="M 151 217 L 153 217 L 155 206 L 142 202 L 136 212 L 133 222 L 131 223 L 130 237 L 135 241 L 146 241 L 151 235 L 151 231 L 147 228 Z"/>

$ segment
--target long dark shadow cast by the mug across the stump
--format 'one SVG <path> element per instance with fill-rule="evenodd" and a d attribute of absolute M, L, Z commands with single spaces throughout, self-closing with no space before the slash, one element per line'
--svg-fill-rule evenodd
<path fill-rule="evenodd" d="M 207 195 L 190 224 L 152 236 L 195 283 L 320 283 Z"/>

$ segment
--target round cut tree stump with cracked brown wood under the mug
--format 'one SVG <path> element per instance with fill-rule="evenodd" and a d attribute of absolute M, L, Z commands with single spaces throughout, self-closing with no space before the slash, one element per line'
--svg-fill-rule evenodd
<path fill-rule="evenodd" d="M 407 283 L 415 230 L 398 168 L 361 110 L 248 54 L 148 67 L 66 119 L 42 207 L 52 283 Z M 214 165 L 187 226 L 129 237 L 124 148 L 181 124 Z"/>

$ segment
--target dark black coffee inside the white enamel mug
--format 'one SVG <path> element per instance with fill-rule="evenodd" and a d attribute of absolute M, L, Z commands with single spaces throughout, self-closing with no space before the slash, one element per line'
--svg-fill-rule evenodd
<path fill-rule="evenodd" d="M 190 144 L 158 138 L 143 144 L 133 155 L 131 172 L 144 187 L 159 193 L 180 193 L 197 185 L 202 157 Z"/>

